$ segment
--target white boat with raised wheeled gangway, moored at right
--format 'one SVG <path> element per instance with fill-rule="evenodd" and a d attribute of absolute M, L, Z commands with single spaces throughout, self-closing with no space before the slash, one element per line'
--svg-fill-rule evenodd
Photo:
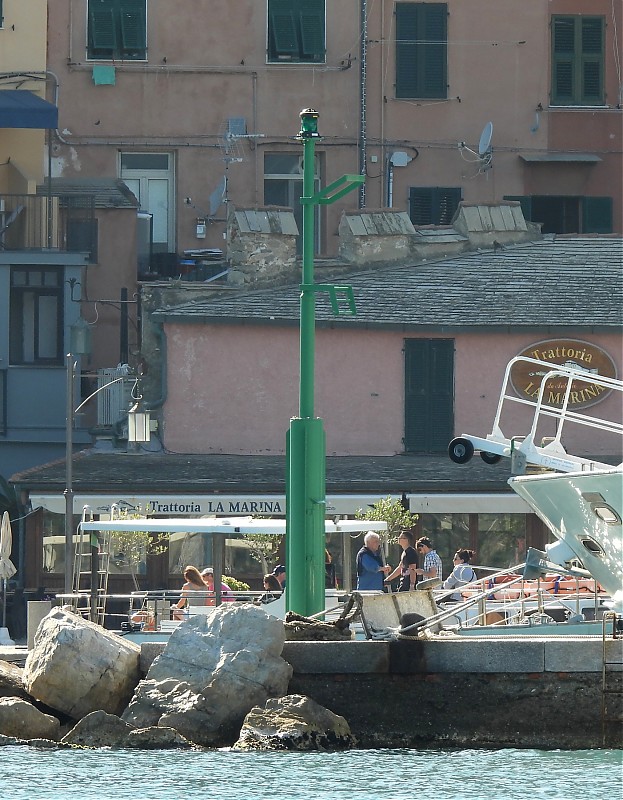
<path fill-rule="evenodd" d="M 543 380 L 536 401 L 527 401 L 513 396 L 508 391 L 510 372 L 517 361 L 530 362 L 540 368 Z M 513 359 L 506 375 L 492 432 L 486 438 L 462 434 L 449 445 L 450 458 L 456 463 L 467 463 L 475 450 L 488 463 L 502 457 L 511 459 L 515 471 L 525 472 L 528 467 L 541 471 L 534 475 L 516 475 L 509 485 L 534 510 L 556 537 L 556 542 L 546 545 L 545 552 L 530 548 L 522 575 L 513 581 L 523 592 L 526 582 L 537 586 L 536 597 L 514 597 L 519 615 L 508 606 L 500 606 L 498 592 L 487 592 L 482 582 L 467 588 L 472 600 L 459 603 L 453 609 L 441 609 L 420 629 L 455 618 L 457 632 L 468 635 L 603 635 L 604 630 L 616 634 L 623 630 L 623 464 L 613 467 L 594 459 L 570 455 L 561 443 L 563 430 L 571 425 L 588 426 L 615 434 L 620 452 L 623 441 L 623 424 L 618 421 L 600 419 L 569 409 L 569 397 L 574 381 L 582 381 L 584 371 L 575 365 L 558 366 L 534 359 Z M 545 385 L 551 378 L 566 383 L 560 406 L 545 402 Z M 586 376 L 584 375 L 584 380 Z M 591 375 L 591 382 L 599 384 L 604 391 L 617 392 L 623 397 L 623 382 L 614 378 Z M 504 404 L 522 403 L 531 406 L 534 416 L 530 430 L 525 436 L 506 436 L 500 427 Z M 543 417 L 556 420 L 556 436 L 536 444 L 537 431 Z M 547 579 L 561 573 L 577 583 L 578 591 L 565 598 L 552 595 L 551 587 L 545 588 Z M 582 582 L 594 582 L 599 586 L 601 598 L 580 592 Z M 506 584 L 507 587 L 511 583 Z M 539 588 L 542 586 L 542 588 Z M 586 588 L 586 584 L 585 587 Z M 502 590 L 503 591 L 503 590 Z M 479 603 L 479 606 L 476 604 Z M 568 619 L 557 622 L 552 610 L 557 603 L 571 613 Z M 589 613 L 590 609 L 592 613 Z M 486 624 L 487 614 L 502 611 L 496 624 Z M 607 625 L 604 623 L 606 619 Z M 470 623 L 477 623 L 477 626 Z M 457 624 L 458 623 L 458 624 Z M 484 624 L 483 624 L 484 623 Z M 510 623 L 510 624 L 509 624 Z"/>

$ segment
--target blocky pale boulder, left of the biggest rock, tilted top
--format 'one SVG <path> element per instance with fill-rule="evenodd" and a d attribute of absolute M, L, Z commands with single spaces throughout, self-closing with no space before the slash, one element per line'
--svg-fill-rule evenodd
<path fill-rule="evenodd" d="M 62 609 L 41 621 L 24 666 L 26 690 L 73 719 L 120 714 L 139 679 L 140 647 Z"/>

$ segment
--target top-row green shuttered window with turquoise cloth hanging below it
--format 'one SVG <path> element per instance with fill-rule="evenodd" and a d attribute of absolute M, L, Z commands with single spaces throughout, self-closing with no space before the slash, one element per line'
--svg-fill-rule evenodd
<path fill-rule="evenodd" d="M 87 57 L 98 61 L 147 58 L 147 0 L 89 0 Z"/>

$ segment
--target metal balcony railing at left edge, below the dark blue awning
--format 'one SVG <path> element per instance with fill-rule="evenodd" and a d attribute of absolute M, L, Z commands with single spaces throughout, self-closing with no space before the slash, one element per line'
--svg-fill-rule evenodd
<path fill-rule="evenodd" d="M 0 194 L 0 252 L 87 252 L 97 261 L 97 220 L 92 195 Z"/>

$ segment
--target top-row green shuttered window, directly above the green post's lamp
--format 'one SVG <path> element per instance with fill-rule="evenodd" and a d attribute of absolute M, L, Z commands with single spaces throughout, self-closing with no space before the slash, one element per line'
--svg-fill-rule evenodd
<path fill-rule="evenodd" d="M 269 62 L 325 60 L 325 0 L 268 0 Z"/>

